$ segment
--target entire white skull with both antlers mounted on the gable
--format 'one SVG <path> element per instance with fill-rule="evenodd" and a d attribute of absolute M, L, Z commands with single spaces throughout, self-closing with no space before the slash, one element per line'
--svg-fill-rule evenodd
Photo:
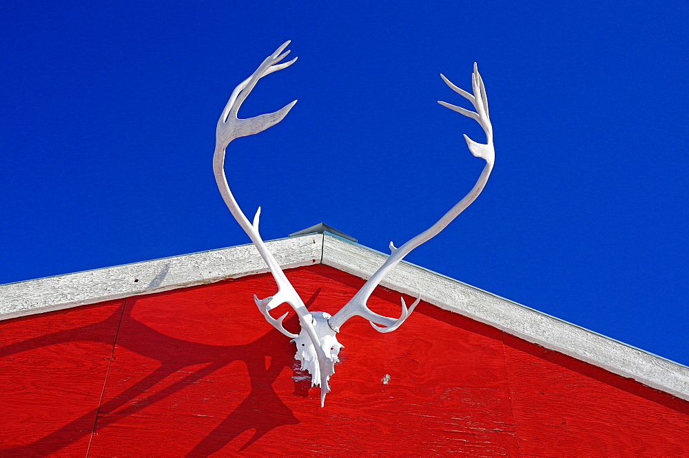
<path fill-rule="evenodd" d="M 361 290 L 359 290 L 359 292 L 357 292 L 357 294 L 351 298 L 351 301 L 349 301 L 345 307 L 342 307 L 340 312 L 338 312 L 335 316 L 331 317 L 325 312 L 309 313 L 296 290 L 294 290 L 294 287 L 287 280 L 285 273 L 282 272 L 282 269 L 280 269 L 280 265 L 278 265 L 278 262 L 265 246 L 263 239 L 260 237 L 258 232 L 260 207 L 256 212 L 256 216 L 254 216 L 254 221 L 250 223 L 242 210 L 239 208 L 234 196 L 232 195 L 232 192 L 229 190 L 224 170 L 225 150 L 227 149 L 229 142 L 232 142 L 232 140 L 237 137 L 252 135 L 267 129 L 274 124 L 277 124 L 280 122 L 280 120 L 282 120 L 282 118 L 285 118 L 289 110 L 294 107 L 296 100 L 274 113 L 267 113 L 249 119 L 239 119 L 237 117 L 237 112 L 240 106 L 249 95 L 249 92 L 254 89 L 254 86 L 256 86 L 256 83 L 260 78 L 263 78 L 263 76 L 271 74 L 272 72 L 276 72 L 277 70 L 288 67 L 294 63 L 294 61 L 296 61 L 296 58 L 294 58 L 291 61 L 280 63 L 280 61 L 282 61 L 282 59 L 289 54 L 289 51 L 285 52 L 284 54 L 280 54 L 283 50 L 285 50 L 287 45 L 289 45 L 289 41 L 280 46 L 276 52 L 268 56 L 263 63 L 261 63 L 258 69 L 256 69 L 256 72 L 240 83 L 240 85 L 238 85 L 232 92 L 232 96 L 230 96 L 229 102 L 227 102 L 227 106 L 223 110 L 223 113 L 218 120 L 218 126 L 216 129 L 216 150 L 213 156 L 213 170 L 216 177 L 216 182 L 218 183 L 218 188 L 220 189 L 220 194 L 223 196 L 225 204 L 227 204 L 227 208 L 229 208 L 230 212 L 232 212 L 232 215 L 234 215 L 240 226 L 242 226 L 245 232 L 247 232 L 251 238 L 251 241 L 254 242 L 256 249 L 267 263 L 268 268 L 273 274 L 273 277 L 278 285 L 278 292 L 276 292 L 274 296 L 270 296 L 265 299 L 259 299 L 258 297 L 254 296 L 254 301 L 256 302 L 260 312 L 263 314 L 263 316 L 265 316 L 268 323 L 278 329 L 278 331 L 280 331 L 282 334 L 285 334 L 285 336 L 292 338 L 292 341 L 296 344 L 297 353 L 295 358 L 302 362 L 302 369 L 307 369 L 309 373 L 311 373 L 311 384 L 320 385 L 320 405 L 323 406 L 325 403 L 325 395 L 330 391 L 328 379 L 330 378 L 330 375 L 335 372 L 334 364 L 338 362 L 338 352 L 340 351 L 340 348 L 342 348 L 342 345 L 337 341 L 336 338 L 336 333 L 340 330 L 340 326 L 342 326 L 342 324 L 344 324 L 345 321 L 352 316 L 360 315 L 364 318 L 367 318 L 371 322 L 373 328 L 380 332 L 394 331 L 400 325 L 402 325 L 402 323 L 404 323 L 404 320 L 406 320 L 409 314 L 411 314 L 414 307 L 416 307 L 421 301 L 421 296 L 419 295 L 411 307 L 407 307 L 407 303 L 405 303 L 404 298 L 402 298 L 402 314 L 400 315 L 400 318 L 396 320 L 371 312 L 366 305 L 369 296 L 371 296 L 373 290 L 376 289 L 376 286 L 378 286 L 384 276 L 386 276 L 390 270 L 394 268 L 395 265 L 397 265 L 397 263 L 404 258 L 404 256 L 407 255 L 407 253 L 411 252 L 411 250 L 421 245 L 425 241 L 431 239 L 431 237 L 437 235 L 438 232 L 443 230 L 445 226 L 450 223 L 450 221 L 455 219 L 455 217 L 457 217 L 457 215 L 459 215 L 464 208 L 469 206 L 469 204 L 471 204 L 471 202 L 473 202 L 474 199 L 481 193 L 489 175 L 491 174 L 493 162 L 495 160 L 495 152 L 493 149 L 493 127 L 491 126 L 491 120 L 489 118 L 486 89 L 475 64 L 474 73 L 472 75 L 473 94 L 469 94 L 459 87 L 456 87 L 450 83 L 447 78 L 440 75 L 445 83 L 449 85 L 449 87 L 451 87 L 458 94 L 469 99 L 476 111 L 469 111 L 461 107 L 456 107 L 455 105 L 450 105 L 446 102 L 439 103 L 445 107 L 458 111 L 465 116 L 469 116 L 470 118 L 477 120 L 477 122 L 479 122 L 481 127 L 483 127 L 484 131 L 486 132 L 486 144 L 474 142 L 469 137 L 464 135 L 466 144 L 469 145 L 469 150 L 471 153 L 477 157 L 482 157 L 486 161 L 486 166 L 484 167 L 481 176 L 471 192 L 459 203 L 457 203 L 457 205 L 451 208 L 451 210 L 447 212 L 440 219 L 440 221 L 433 224 L 431 228 L 425 230 L 407 243 L 404 243 L 404 245 L 402 245 L 400 248 L 395 248 L 393 243 L 390 242 L 390 250 L 392 252 L 391 256 L 387 259 L 387 261 L 385 261 L 385 263 L 383 263 L 381 268 L 375 274 L 373 274 L 373 276 L 371 276 L 371 279 L 364 284 Z M 300 334 L 292 334 L 291 332 L 287 331 L 282 324 L 289 312 L 283 314 L 277 319 L 271 316 L 270 311 L 283 303 L 288 303 L 291 305 L 299 317 L 299 322 L 301 325 Z"/>

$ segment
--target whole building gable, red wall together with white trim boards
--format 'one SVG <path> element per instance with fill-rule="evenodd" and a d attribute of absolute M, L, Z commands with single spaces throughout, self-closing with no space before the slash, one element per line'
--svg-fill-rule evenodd
<path fill-rule="evenodd" d="M 385 259 L 328 233 L 268 246 L 330 313 Z M 2 455 L 689 454 L 688 368 L 410 263 L 369 305 L 424 301 L 395 333 L 347 322 L 322 409 L 256 309 L 266 272 L 238 246 L 0 285 Z"/>

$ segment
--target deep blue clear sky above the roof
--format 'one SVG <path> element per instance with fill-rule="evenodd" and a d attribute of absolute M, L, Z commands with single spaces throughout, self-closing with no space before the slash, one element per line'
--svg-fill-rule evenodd
<path fill-rule="evenodd" d="M 371 4 L 373 3 L 373 4 Z M 240 116 L 226 170 L 264 239 L 320 221 L 386 251 L 484 162 L 440 79 L 486 83 L 495 170 L 408 261 L 689 364 L 689 3 L 5 2 L 0 283 L 248 242 L 212 175 L 232 89 L 299 60 Z M 466 107 L 466 105 L 464 105 Z"/>

